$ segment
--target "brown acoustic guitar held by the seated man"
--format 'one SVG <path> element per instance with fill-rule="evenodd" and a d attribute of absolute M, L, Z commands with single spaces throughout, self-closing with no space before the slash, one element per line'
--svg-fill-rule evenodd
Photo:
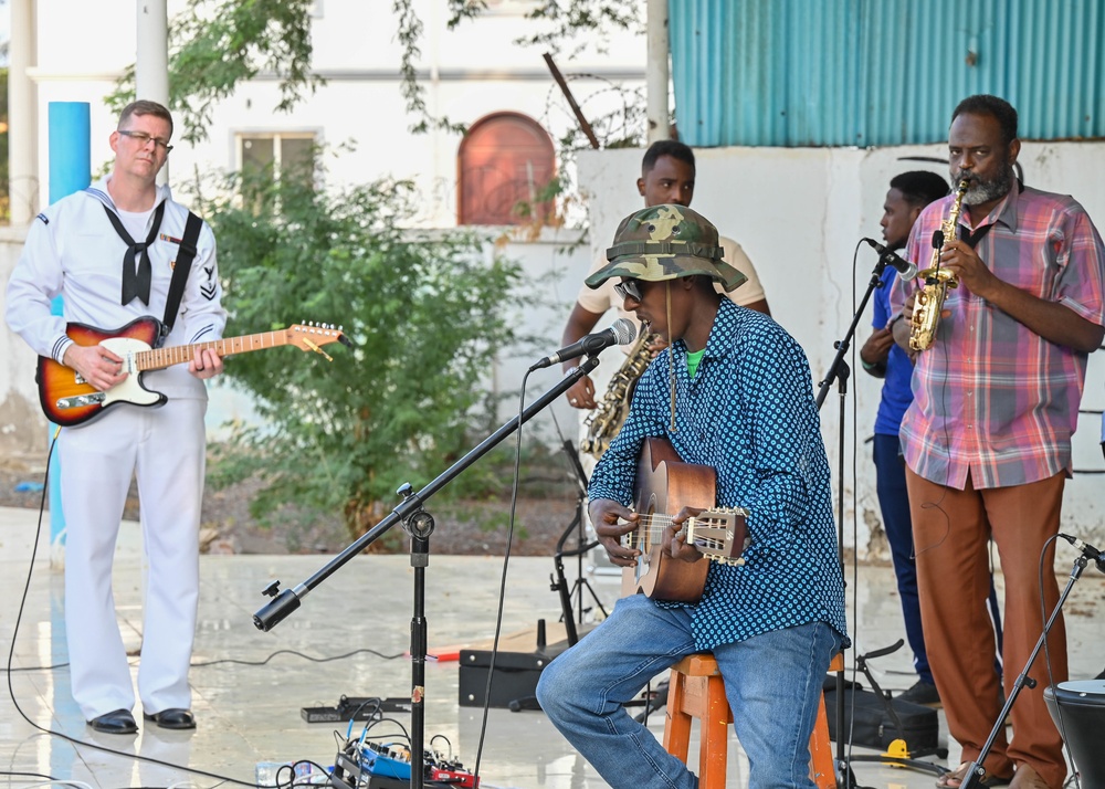
<path fill-rule="evenodd" d="M 680 460 L 666 439 L 645 439 L 636 469 L 638 527 L 622 536 L 622 545 L 641 551 L 633 567 L 622 571 L 622 593 L 643 592 L 654 600 L 697 602 L 706 586 L 709 564 L 683 561 L 663 553 L 664 529 L 683 507 L 705 512 L 687 518 L 681 534 L 703 556 L 727 565 L 744 564 L 748 541 L 748 511 L 714 506 L 716 475 L 705 465 Z"/>

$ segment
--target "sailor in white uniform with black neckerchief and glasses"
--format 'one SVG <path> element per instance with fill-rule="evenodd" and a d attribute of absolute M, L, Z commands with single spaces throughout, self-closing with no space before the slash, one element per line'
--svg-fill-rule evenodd
<path fill-rule="evenodd" d="M 112 332 L 138 317 L 162 318 L 188 218 L 169 189 L 155 182 L 171 134 L 172 119 L 161 105 L 136 102 L 124 109 L 110 136 L 112 173 L 39 214 L 8 284 L 11 329 L 36 354 L 75 369 L 102 391 L 125 379 L 123 359 L 101 345 L 74 344 L 66 324 Z M 196 250 L 166 346 L 219 339 L 225 326 L 214 234 L 207 223 Z M 51 315 L 57 295 L 64 299 L 62 317 Z M 147 388 L 168 397 L 165 406 L 116 404 L 59 436 L 73 697 L 96 730 L 137 730 L 130 712 L 135 691 L 112 595 L 112 559 L 133 475 L 149 566 L 138 696 L 145 717 L 156 725 L 196 725 L 188 666 L 199 597 L 202 379 L 221 371 L 218 354 L 196 351 L 187 366 L 144 375 Z"/>

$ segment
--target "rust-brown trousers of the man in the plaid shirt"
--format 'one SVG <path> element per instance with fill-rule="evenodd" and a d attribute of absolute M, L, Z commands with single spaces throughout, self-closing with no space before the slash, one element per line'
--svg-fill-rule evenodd
<path fill-rule="evenodd" d="M 917 555 L 917 586 L 925 646 L 936 686 L 944 702 L 948 730 L 962 746 L 964 761 L 978 758 L 1001 713 L 994 670 L 993 624 L 987 612 L 990 589 L 988 544 L 993 538 L 1006 580 L 1003 639 L 1004 692 L 1024 669 L 1043 632 L 1040 613 L 1040 553 L 1059 532 L 1063 503 L 1062 474 L 1028 485 L 957 491 L 937 485 L 906 470 L 913 540 Z M 1055 545 L 1043 557 L 1043 607 L 1051 616 L 1059 601 L 1054 572 Z M 1066 630 L 1060 616 L 1040 651 L 1027 685 L 1013 704 L 1012 738 L 999 732 L 985 761 L 988 775 L 1007 778 L 1013 766 L 1028 764 L 1052 789 L 1066 777 L 1063 740 L 1043 699 L 1050 681 L 1067 678 Z"/>

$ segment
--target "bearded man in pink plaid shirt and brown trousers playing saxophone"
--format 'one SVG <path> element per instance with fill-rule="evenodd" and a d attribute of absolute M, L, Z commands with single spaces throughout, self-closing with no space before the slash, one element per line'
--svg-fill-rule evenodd
<path fill-rule="evenodd" d="M 989 540 L 1006 579 L 1006 693 L 1043 631 L 1041 591 L 1059 600 L 1054 561 L 1071 435 L 1088 355 L 1105 336 L 1105 248 L 1072 198 L 1022 186 L 1017 111 L 994 96 L 971 96 L 951 116 L 951 181 L 967 178 L 956 238 L 939 256 L 959 280 L 948 291 L 933 346 L 916 354 L 915 400 L 902 422 L 922 620 L 929 663 L 962 746 L 964 765 L 937 781 L 958 787 L 1001 712 L 994 642 L 985 601 Z M 933 233 L 953 198 L 917 219 L 906 254 L 930 265 Z M 902 283 L 892 303 L 912 315 L 924 283 Z M 894 337 L 908 348 L 909 320 Z M 1046 545 L 1048 549 L 1044 550 Z M 1057 619 L 1049 639 L 1055 682 L 1067 678 L 1066 635 Z M 1043 661 L 1034 676 L 1044 680 Z M 985 760 L 989 783 L 1060 789 L 1062 739 L 1043 701 L 1046 682 L 1025 687 Z M 1015 770 L 1015 771 L 1014 771 Z"/>

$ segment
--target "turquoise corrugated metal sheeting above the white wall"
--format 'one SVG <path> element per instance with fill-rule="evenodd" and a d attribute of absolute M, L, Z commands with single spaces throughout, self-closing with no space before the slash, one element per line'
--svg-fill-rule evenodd
<path fill-rule="evenodd" d="M 693 146 L 947 139 L 975 93 L 1024 139 L 1105 137 L 1105 0 L 670 0 Z"/>

